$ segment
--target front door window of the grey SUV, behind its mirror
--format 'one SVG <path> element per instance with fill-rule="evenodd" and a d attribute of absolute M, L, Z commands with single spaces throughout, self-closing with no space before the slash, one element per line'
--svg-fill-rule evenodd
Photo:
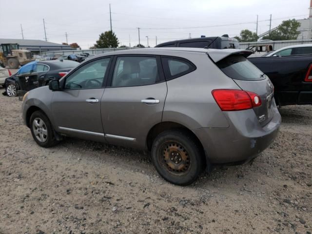
<path fill-rule="evenodd" d="M 92 89 L 102 87 L 110 58 L 85 64 L 65 80 L 65 89 Z"/>

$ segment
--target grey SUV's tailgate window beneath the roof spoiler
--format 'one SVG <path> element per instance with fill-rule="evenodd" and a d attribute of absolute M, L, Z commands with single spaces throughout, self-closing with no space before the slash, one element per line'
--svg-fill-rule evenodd
<path fill-rule="evenodd" d="M 233 79 L 251 81 L 265 79 L 263 72 L 241 55 L 229 56 L 218 61 L 216 65 L 225 75 Z"/>

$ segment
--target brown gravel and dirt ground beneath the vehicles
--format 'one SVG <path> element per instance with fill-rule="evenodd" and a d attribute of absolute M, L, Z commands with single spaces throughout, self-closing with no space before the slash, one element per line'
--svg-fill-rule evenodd
<path fill-rule="evenodd" d="M 277 139 L 252 163 L 188 187 L 132 149 L 73 138 L 40 148 L 20 108 L 0 95 L 0 234 L 312 232 L 312 106 L 283 107 Z"/>

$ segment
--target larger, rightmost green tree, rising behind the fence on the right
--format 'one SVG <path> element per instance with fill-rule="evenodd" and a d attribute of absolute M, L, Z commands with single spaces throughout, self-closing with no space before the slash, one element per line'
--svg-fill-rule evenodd
<path fill-rule="evenodd" d="M 265 36 L 262 39 L 295 40 L 300 34 L 298 31 L 300 25 L 301 23 L 295 19 L 285 20 L 280 25 L 278 25 L 276 30 L 272 31 L 268 36 Z"/>

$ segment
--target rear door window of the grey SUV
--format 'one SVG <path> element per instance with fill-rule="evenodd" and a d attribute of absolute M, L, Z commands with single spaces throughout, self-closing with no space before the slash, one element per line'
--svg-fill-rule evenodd
<path fill-rule="evenodd" d="M 138 56 L 117 58 L 113 87 L 147 85 L 158 81 L 156 58 Z"/>

